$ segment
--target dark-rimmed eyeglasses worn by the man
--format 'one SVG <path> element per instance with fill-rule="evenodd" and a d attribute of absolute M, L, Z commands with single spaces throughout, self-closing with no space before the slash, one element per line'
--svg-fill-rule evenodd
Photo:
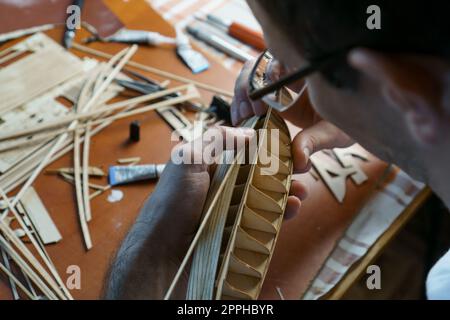
<path fill-rule="evenodd" d="M 347 52 L 346 50 L 345 53 Z M 258 57 L 250 73 L 249 97 L 252 101 L 262 99 L 267 105 L 277 111 L 286 111 L 298 101 L 299 97 L 306 90 L 306 85 L 303 83 L 299 90 L 293 90 L 287 86 L 292 87 L 294 83 L 300 82 L 314 72 L 323 70 L 325 67 L 336 62 L 338 58 L 342 58 L 342 53 L 318 59 L 314 63 L 300 68 L 290 75 L 280 77 L 280 70 L 277 73 L 273 69 L 277 67 L 279 69 L 281 64 L 266 50 Z M 297 85 L 297 87 L 300 86 Z"/>

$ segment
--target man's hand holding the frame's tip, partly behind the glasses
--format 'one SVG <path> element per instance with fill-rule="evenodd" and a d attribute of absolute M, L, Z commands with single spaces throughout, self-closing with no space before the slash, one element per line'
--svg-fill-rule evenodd
<path fill-rule="evenodd" d="M 263 115 L 267 111 L 267 107 L 262 101 L 253 102 L 248 97 L 248 78 L 254 63 L 255 61 L 248 61 L 236 81 L 234 99 L 231 105 L 231 119 L 234 125 L 253 115 Z M 300 90 L 295 91 L 299 92 Z M 353 143 L 348 135 L 333 124 L 323 120 L 315 112 L 307 90 L 304 90 L 295 105 L 281 115 L 295 126 L 303 129 L 294 137 L 292 142 L 296 173 L 303 173 L 311 168 L 309 157 L 313 153 L 323 149 L 348 147 Z"/>

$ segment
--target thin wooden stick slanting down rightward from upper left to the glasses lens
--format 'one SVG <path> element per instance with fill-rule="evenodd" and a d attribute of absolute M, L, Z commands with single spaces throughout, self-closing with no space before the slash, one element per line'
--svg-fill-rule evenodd
<path fill-rule="evenodd" d="M 88 53 L 88 54 L 91 54 L 91 55 L 94 55 L 94 56 L 97 56 L 97 57 L 101 57 L 101 58 L 104 58 L 104 59 L 110 59 L 111 58 L 111 55 L 108 54 L 108 53 L 105 53 L 105 52 L 102 52 L 102 51 L 98 51 L 98 50 L 95 50 L 95 49 L 92 49 L 92 48 L 88 48 L 88 47 L 82 46 L 82 45 L 80 45 L 78 43 L 74 43 L 72 47 L 75 50 L 81 51 L 83 53 Z M 182 76 L 179 76 L 179 75 L 167 72 L 167 71 L 163 71 L 163 70 L 160 70 L 160 69 L 157 69 L 157 68 L 154 68 L 154 67 L 150 67 L 150 66 L 147 66 L 147 65 L 144 65 L 144 64 L 141 64 L 141 63 L 137 63 L 137 62 L 134 62 L 134 61 L 129 61 L 127 63 L 127 65 L 130 66 L 130 67 L 134 67 L 136 69 L 140 69 L 140 70 L 143 70 L 143 71 L 151 72 L 151 73 L 154 73 L 154 74 L 159 75 L 161 77 L 172 79 L 172 80 L 175 80 L 175 81 L 178 81 L 178 82 L 187 83 L 187 84 L 194 84 L 194 85 L 196 85 L 197 87 L 199 87 L 201 89 L 204 89 L 204 90 L 207 90 L 207 91 L 210 91 L 210 92 L 213 92 L 213 93 L 221 94 L 221 95 L 226 96 L 226 97 L 232 98 L 234 96 L 234 94 L 232 92 L 229 92 L 227 90 L 223 90 L 223 89 L 217 88 L 217 87 L 209 85 L 209 84 L 205 84 L 205 83 L 202 83 L 202 82 L 199 82 L 199 81 L 188 79 L 188 78 L 185 78 L 185 77 L 182 77 Z"/>

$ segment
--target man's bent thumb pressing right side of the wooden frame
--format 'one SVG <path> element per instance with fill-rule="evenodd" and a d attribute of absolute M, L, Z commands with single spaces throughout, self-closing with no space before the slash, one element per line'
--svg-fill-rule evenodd
<path fill-rule="evenodd" d="M 297 134 L 292 142 L 294 171 L 304 173 L 310 170 L 310 156 L 323 149 L 345 148 L 353 140 L 335 125 L 320 121 Z"/>

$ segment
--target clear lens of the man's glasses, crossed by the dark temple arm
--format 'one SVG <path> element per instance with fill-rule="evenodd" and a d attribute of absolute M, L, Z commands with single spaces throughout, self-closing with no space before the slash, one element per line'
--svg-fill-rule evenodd
<path fill-rule="evenodd" d="M 255 72 L 251 79 L 252 90 L 260 90 L 280 80 L 287 75 L 286 68 L 268 51 L 259 59 L 255 66 Z M 262 100 L 270 107 L 285 111 L 297 102 L 299 96 L 305 89 L 303 81 L 297 81 L 289 87 L 282 87 L 273 93 L 267 94 Z"/>

